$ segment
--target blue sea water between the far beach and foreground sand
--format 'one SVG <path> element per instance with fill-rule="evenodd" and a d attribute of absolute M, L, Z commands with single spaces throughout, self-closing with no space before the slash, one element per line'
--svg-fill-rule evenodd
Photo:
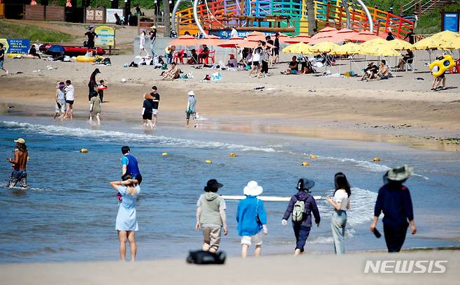
<path fill-rule="evenodd" d="M 459 245 L 458 187 L 460 154 L 411 149 L 377 142 L 321 140 L 257 133 L 224 133 L 161 127 L 144 131 L 124 122 L 52 122 L 40 117 L 0 117 L 0 154 L 12 156 L 13 140 L 27 140 L 28 189 L 1 187 L 0 262 L 99 261 L 118 258 L 115 217 L 118 203 L 109 182 L 120 180 L 123 145 L 137 156 L 143 175 L 138 199 L 138 259 L 185 258 L 200 249 L 194 231 L 196 201 L 206 181 L 224 184 L 222 195 L 242 195 L 256 180 L 265 196 L 292 196 L 299 177 L 315 180 L 312 194 L 333 193 L 333 176 L 341 171 L 352 184 L 347 212 L 347 251 L 384 250 L 384 239 L 369 232 L 382 175 L 404 163 L 415 168 L 410 189 L 417 235 L 408 234 L 405 248 Z M 81 148 L 89 152 L 80 153 Z M 168 152 L 168 156 L 161 154 Z M 236 157 L 229 156 L 236 153 Z M 310 159 L 315 154 L 317 159 Z M 380 162 L 373 162 L 378 156 Z M 210 159 L 213 163 L 206 163 Z M 4 160 L 3 160 L 4 161 Z M 308 161 L 310 166 L 301 166 Z M 2 163 L 6 184 L 9 163 Z M 221 249 L 240 252 L 236 231 L 238 201 L 227 201 L 229 234 Z M 306 245 L 310 253 L 333 253 L 331 206 L 318 200 L 319 227 Z M 268 235 L 263 254 L 291 254 L 290 223 L 281 225 L 287 202 L 265 202 Z M 382 231 L 381 221 L 378 228 Z"/>

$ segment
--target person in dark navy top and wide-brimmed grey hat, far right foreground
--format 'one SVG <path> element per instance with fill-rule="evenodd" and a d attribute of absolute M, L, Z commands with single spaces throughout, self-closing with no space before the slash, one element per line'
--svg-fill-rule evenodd
<path fill-rule="evenodd" d="M 409 225 L 410 233 L 417 233 L 410 192 L 403 185 L 413 172 L 413 168 L 407 165 L 392 168 L 383 176 L 384 185 L 378 191 L 371 232 L 375 231 L 378 217 L 383 212 L 383 232 L 388 252 L 401 251 Z"/>

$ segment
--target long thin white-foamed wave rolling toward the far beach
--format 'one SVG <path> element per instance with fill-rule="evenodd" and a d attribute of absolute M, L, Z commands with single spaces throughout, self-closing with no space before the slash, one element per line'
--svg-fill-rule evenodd
<path fill-rule="evenodd" d="M 101 141 L 116 142 L 145 142 L 147 145 L 161 145 L 166 147 L 195 147 L 228 149 L 240 152 L 277 152 L 273 147 L 255 147 L 250 145 L 236 145 L 227 142 L 212 142 L 199 140 L 186 140 L 182 138 L 170 138 L 166 136 L 154 136 L 144 133 L 124 133 L 121 131 L 101 131 L 94 129 L 69 128 L 66 126 L 40 125 L 19 122 L 3 121 L 0 125 L 39 133 L 48 136 L 65 136 L 69 138 L 92 138 Z"/>

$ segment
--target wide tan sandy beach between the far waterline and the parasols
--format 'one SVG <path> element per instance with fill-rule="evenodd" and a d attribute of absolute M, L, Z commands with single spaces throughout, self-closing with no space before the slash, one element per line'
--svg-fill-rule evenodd
<path fill-rule="evenodd" d="M 203 129 L 285 133 L 339 140 L 398 142 L 412 147 L 458 151 L 460 137 L 460 90 L 458 74 L 447 75 L 447 90 L 432 92 L 432 76 L 423 66 L 428 54 L 417 52 L 417 72 L 399 72 L 390 80 L 360 82 L 358 78 L 318 75 L 280 75 L 286 63 L 274 65 L 267 78 L 247 78 L 247 72 L 220 71 L 219 82 L 201 82 L 213 69 L 181 66 L 194 78 L 173 82 L 159 80 L 160 70 L 151 66 L 123 68 L 133 56 L 110 57 L 112 66 L 34 59 L 8 59 L 11 75 L 0 77 L 0 103 L 14 105 L 13 112 L 32 109 L 51 114 L 55 86 L 71 79 L 76 86 L 76 117 L 87 113 L 87 80 L 94 68 L 106 80 L 104 119 L 140 121 L 143 94 L 152 85 L 161 96 L 159 124 L 181 126 L 187 92 L 193 89 L 199 115 L 209 120 Z M 289 54 L 283 54 L 283 60 Z M 349 69 L 338 61 L 332 73 Z M 357 66 L 366 64 L 357 59 Z M 47 66 L 52 66 L 48 70 Z M 353 66 L 357 69 L 356 66 Z M 323 71 L 324 68 L 319 68 Z M 38 71 L 40 72 L 35 72 Z M 21 72 L 20 74 L 15 74 Z M 127 82 L 122 82 L 125 78 Z M 418 78 L 418 79 L 417 79 Z M 8 88 L 5 88 L 8 87 Z M 255 87 L 264 87 L 254 90 Z M 20 96 L 18 96 L 20 95 Z M 2 108 L 5 110 L 5 108 Z"/>

